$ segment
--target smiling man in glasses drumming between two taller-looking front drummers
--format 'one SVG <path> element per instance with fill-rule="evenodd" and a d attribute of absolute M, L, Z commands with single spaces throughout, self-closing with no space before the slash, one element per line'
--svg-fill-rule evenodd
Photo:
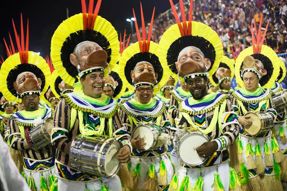
<path fill-rule="evenodd" d="M 139 35 L 139 30 L 137 27 L 136 29 Z M 164 144 L 170 145 L 168 134 L 170 123 L 166 116 L 165 105 L 152 98 L 153 93 L 165 84 L 169 76 L 158 60 L 156 54 L 158 44 L 148 39 L 149 47 L 141 51 L 140 47 L 144 43 L 146 41 L 138 39 L 138 42 L 129 45 L 119 60 L 120 71 L 130 71 L 130 73 L 120 73 L 124 86 L 134 87 L 137 96 L 120 104 L 122 122 L 128 127 L 129 134 L 132 134 L 135 127 L 143 124 L 162 126 L 165 133 L 160 137 L 166 139 Z M 132 190 L 168 190 L 173 177 L 173 166 L 166 154 L 167 150 L 164 146 L 144 150 L 147 141 L 153 141 L 153 138 L 134 135 L 131 140 L 133 152 L 130 172 L 134 184 Z"/>

